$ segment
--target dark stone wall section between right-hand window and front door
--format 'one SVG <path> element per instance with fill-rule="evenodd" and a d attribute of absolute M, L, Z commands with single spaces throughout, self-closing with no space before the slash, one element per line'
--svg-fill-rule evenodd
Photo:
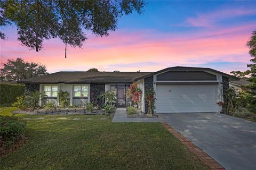
<path fill-rule="evenodd" d="M 95 102 L 101 107 L 105 103 L 103 99 L 98 99 L 97 96 L 105 92 L 105 84 L 91 83 L 90 86 L 90 101 Z"/>

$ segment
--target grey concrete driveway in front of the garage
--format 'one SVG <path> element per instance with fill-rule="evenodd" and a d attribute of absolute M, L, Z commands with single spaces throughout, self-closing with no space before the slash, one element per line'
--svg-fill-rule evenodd
<path fill-rule="evenodd" d="M 218 113 L 159 115 L 226 169 L 256 169 L 256 123 Z"/>

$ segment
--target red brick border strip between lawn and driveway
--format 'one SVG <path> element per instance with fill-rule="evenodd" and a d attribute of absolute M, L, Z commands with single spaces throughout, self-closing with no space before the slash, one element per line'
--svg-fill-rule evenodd
<path fill-rule="evenodd" d="M 177 130 L 173 129 L 169 124 L 162 123 L 164 128 L 178 138 L 183 145 L 185 145 L 199 160 L 201 160 L 210 169 L 225 170 L 216 160 L 206 154 L 202 149 L 198 148 L 193 142 L 189 141 L 186 137 L 180 134 Z"/>

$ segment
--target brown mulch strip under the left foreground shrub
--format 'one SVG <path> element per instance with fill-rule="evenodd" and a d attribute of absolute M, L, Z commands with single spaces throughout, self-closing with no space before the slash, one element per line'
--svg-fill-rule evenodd
<path fill-rule="evenodd" d="M 20 147 L 25 145 L 27 139 L 28 139 L 27 136 L 23 136 L 22 138 L 17 140 L 10 148 L 7 148 L 6 143 L 3 143 L 2 146 L 0 147 L 0 157 L 3 157 L 5 155 L 19 149 Z"/>

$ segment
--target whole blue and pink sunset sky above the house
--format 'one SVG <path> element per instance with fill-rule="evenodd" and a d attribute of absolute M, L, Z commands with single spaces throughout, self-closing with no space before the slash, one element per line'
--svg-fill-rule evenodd
<path fill-rule="evenodd" d="M 245 46 L 256 30 L 256 1 L 147 1 L 145 11 L 119 19 L 109 37 L 89 39 L 67 49 L 59 39 L 44 41 L 39 53 L 21 46 L 15 27 L 5 27 L 1 66 L 7 58 L 45 64 L 57 71 L 157 71 L 171 66 L 211 67 L 229 73 L 246 70 Z"/>

